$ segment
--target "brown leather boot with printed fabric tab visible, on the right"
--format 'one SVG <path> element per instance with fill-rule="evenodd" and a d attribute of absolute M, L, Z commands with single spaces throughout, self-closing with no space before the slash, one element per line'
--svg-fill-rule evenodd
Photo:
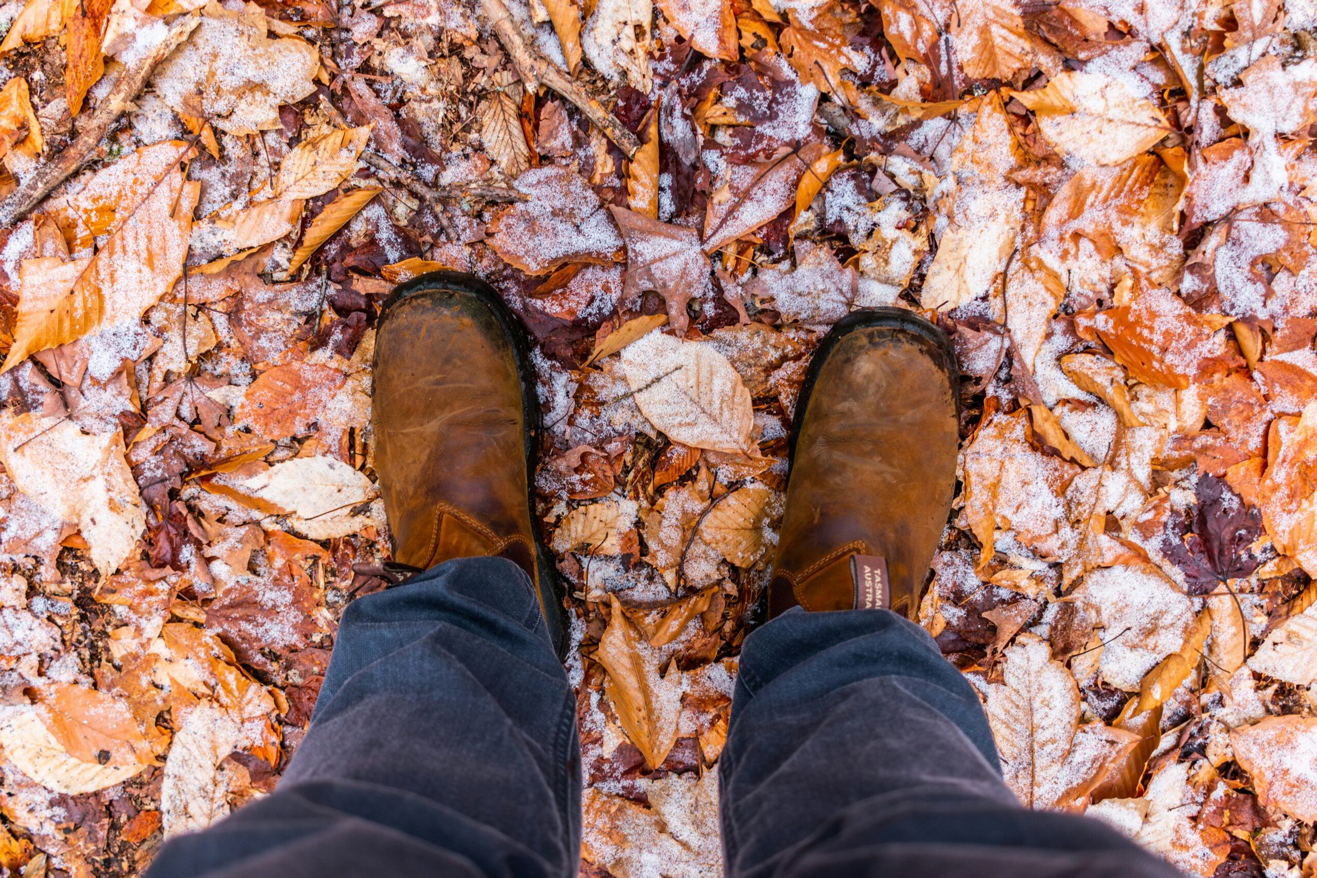
<path fill-rule="evenodd" d="M 857 311 L 824 337 L 795 403 L 769 616 L 914 617 L 956 483 L 957 382 L 946 334 L 909 311 Z"/>

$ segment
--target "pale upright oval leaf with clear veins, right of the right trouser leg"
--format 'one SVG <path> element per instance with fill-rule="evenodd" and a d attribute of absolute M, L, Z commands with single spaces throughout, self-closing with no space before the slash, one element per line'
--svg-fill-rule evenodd
<path fill-rule="evenodd" d="M 1079 686 L 1034 634 L 1021 634 L 1005 654 L 1005 682 L 988 690 L 988 724 L 1006 786 L 1033 806 L 1060 771 L 1079 729 Z"/>

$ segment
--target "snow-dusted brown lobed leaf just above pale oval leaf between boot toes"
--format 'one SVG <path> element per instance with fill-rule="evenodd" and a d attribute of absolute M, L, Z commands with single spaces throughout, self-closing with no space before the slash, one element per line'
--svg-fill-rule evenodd
<path fill-rule="evenodd" d="M 657 291 L 668 304 L 673 329 L 685 336 L 690 325 L 686 303 L 695 296 L 703 297 L 712 288 L 709 257 L 701 249 L 699 234 L 616 205 L 608 209 L 627 246 L 623 299 L 639 301 L 645 290 Z"/>

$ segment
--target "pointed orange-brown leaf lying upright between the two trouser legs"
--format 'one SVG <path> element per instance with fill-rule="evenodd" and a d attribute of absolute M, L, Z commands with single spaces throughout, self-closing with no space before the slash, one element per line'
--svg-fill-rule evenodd
<path fill-rule="evenodd" d="M 677 742 L 681 715 L 681 671 L 673 662 L 660 675 L 658 654 L 627 619 L 616 595 L 608 595 L 612 615 L 599 638 L 595 661 L 608 671 L 605 692 L 618 712 L 618 721 L 651 769 L 662 765 Z"/>

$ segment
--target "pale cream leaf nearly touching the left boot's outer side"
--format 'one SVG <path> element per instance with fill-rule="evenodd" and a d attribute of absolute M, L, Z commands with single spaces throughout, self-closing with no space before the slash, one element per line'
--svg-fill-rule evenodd
<path fill-rule="evenodd" d="M 242 482 L 259 500 L 291 513 L 288 527 L 312 540 L 332 540 L 381 523 L 356 507 L 375 496 L 370 479 L 332 457 L 298 457 Z"/>

